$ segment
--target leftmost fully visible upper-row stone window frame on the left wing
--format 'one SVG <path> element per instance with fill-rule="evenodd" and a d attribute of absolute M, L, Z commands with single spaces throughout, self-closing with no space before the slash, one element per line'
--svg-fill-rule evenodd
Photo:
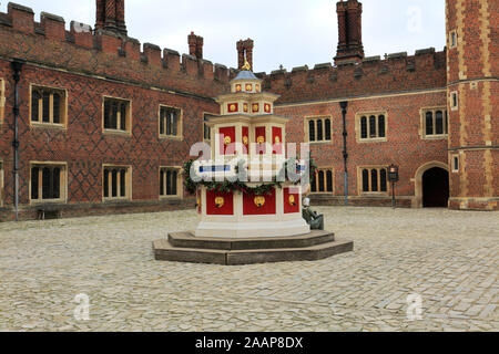
<path fill-rule="evenodd" d="M 43 98 L 39 98 L 39 115 L 38 121 L 32 119 L 32 110 L 33 110 L 33 91 L 48 91 L 50 92 L 50 106 L 49 106 L 49 121 L 50 122 L 43 122 Z M 61 123 L 53 123 L 53 94 L 59 93 L 62 95 L 62 102 L 61 102 L 61 112 L 60 112 L 60 121 Z M 57 86 L 50 86 L 50 85 L 43 85 L 38 83 L 30 83 L 30 91 L 29 91 L 29 119 L 30 119 L 30 126 L 32 127 L 41 127 L 41 128 L 68 128 L 68 90 Z"/>

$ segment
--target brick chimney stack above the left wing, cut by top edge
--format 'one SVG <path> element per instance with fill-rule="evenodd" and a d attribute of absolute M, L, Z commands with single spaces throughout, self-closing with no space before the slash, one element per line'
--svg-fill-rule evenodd
<path fill-rule="evenodd" d="M 96 0 L 95 30 L 126 35 L 124 0 Z"/>

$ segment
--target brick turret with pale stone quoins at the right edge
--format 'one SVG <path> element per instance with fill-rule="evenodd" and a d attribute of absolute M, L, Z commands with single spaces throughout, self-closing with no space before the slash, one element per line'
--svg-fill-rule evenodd
<path fill-rule="evenodd" d="M 499 209 L 497 3 L 446 1 L 452 209 Z"/>

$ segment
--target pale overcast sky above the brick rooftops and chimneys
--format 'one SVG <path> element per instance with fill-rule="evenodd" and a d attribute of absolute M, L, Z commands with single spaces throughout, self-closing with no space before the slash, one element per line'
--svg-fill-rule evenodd
<path fill-rule="evenodd" d="M 40 12 L 95 23 L 95 1 L 17 0 Z M 255 41 L 254 71 L 292 70 L 333 61 L 338 40 L 336 0 L 125 0 L 129 35 L 181 53 L 187 34 L 204 37 L 204 58 L 237 65 L 235 43 Z M 444 0 L 363 0 L 366 56 L 445 46 Z M 7 11 L 7 2 L 1 2 Z"/>

